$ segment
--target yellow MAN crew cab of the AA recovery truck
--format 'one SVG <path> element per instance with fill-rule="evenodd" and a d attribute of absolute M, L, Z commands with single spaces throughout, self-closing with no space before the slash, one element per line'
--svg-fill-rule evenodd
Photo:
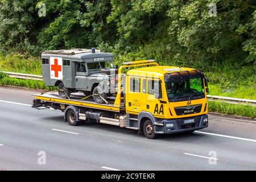
<path fill-rule="evenodd" d="M 191 132 L 208 126 L 207 81 L 201 71 L 168 66 L 132 69 L 126 75 L 127 126 L 155 133 Z M 137 121 L 150 118 L 155 126 Z M 145 124 L 145 123 L 144 123 Z"/>

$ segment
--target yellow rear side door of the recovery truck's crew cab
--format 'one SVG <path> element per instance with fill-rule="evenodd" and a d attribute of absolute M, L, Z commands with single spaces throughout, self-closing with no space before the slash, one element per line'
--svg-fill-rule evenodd
<path fill-rule="evenodd" d="M 139 113 L 141 111 L 141 78 L 129 77 L 129 94 L 127 111 L 131 113 Z"/>

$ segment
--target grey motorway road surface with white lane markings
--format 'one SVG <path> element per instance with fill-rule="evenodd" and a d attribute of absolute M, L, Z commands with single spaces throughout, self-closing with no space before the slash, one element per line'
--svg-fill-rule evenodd
<path fill-rule="evenodd" d="M 209 115 L 193 134 L 137 131 L 32 109 L 36 92 L 0 88 L 0 170 L 256 170 L 256 121 Z"/>

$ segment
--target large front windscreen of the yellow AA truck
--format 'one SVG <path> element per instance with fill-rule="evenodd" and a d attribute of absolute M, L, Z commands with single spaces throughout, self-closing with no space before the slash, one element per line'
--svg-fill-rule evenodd
<path fill-rule="evenodd" d="M 178 98 L 195 99 L 204 97 L 203 78 L 191 78 L 180 82 L 166 82 L 166 92 L 169 100 Z"/>

